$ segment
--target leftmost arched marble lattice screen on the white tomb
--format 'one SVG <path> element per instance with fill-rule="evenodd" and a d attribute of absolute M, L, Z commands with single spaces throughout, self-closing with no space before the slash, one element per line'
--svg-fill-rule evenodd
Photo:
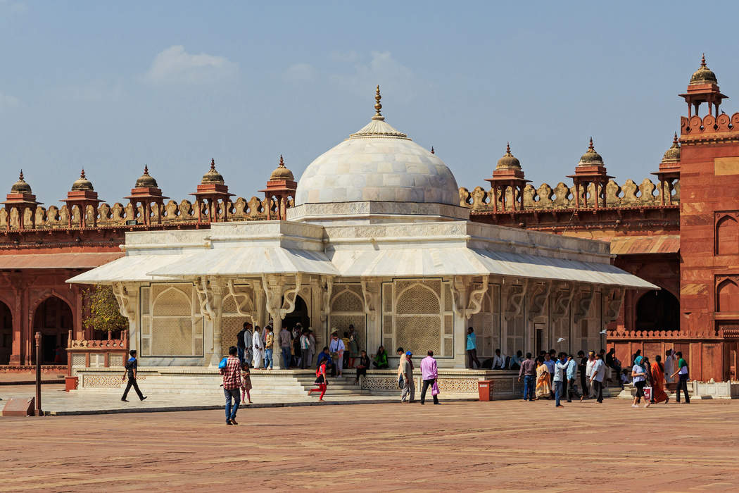
<path fill-rule="evenodd" d="M 191 284 L 141 288 L 141 356 L 202 356 L 202 316 Z"/>

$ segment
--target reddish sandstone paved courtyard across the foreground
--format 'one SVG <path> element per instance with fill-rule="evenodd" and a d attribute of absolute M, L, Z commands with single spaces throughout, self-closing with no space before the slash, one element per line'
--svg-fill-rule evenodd
<path fill-rule="evenodd" d="M 738 491 L 739 402 L 0 418 L 0 491 Z"/>

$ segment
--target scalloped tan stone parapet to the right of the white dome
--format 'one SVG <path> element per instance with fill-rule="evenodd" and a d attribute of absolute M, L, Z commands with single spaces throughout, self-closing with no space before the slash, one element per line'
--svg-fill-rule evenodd
<path fill-rule="evenodd" d="M 667 182 L 664 183 L 664 189 L 660 190 L 660 184 L 653 183 L 649 178 L 644 178 L 640 184 L 636 184 L 633 180 L 626 180 L 623 186 L 619 186 L 614 180 L 609 180 L 605 189 L 606 207 L 628 208 L 628 207 L 657 207 L 662 205 L 661 194 L 665 194 L 664 203 L 672 203 L 676 206 L 680 203 L 680 181 L 677 180 L 672 184 L 673 193 L 670 193 Z M 512 188 L 508 188 L 505 203 L 510 205 L 514 203 L 512 196 Z M 548 183 L 542 183 L 539 188 L 534 188 L 528 184 L 523 189 L 523 208 L 524 210 L 552 210 L 552 209 L 572 209 L 576 208 L 575 187 L 568 187 L 565 183 L 559 182 L 556 187 L 552 188 Z M 502 192 L 497 194 L 498 211 L 503 211 Z M 580 191 L 580 208 L 593 208 L 595 197 L 595 188 L 591 183 L 588 187 L 587 205 L 585 201 L 585 191 Z M 518 193 L 516 193 L 516 200 Z M 483 187 L 476 187 L 472 191 L 467 188 L 460 188 L 460 205 L 469 207 L 473 211 L 493 209 L 493 192 Z M 510 207 L 510 206 L 509 206 Z"/>

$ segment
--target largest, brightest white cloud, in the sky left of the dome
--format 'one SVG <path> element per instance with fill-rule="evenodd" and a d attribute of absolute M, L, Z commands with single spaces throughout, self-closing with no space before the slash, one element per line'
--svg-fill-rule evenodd
<path fill-rule="evenodd" d="M 234 75 L 238 66 L 228 58 L 185 51 L 180 44 L 154 57 L 144 80 L 151 84 L 208 84 Z"/>

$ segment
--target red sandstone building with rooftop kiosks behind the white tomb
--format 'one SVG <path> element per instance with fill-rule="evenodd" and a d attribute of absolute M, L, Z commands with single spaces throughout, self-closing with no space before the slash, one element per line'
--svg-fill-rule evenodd
<path fill-rule="evenodd" d="M 490 188 L 460 188 L 460 202 L 475 221 L 610 242 L 616 265 L 661 288 L 626 293 L 607 334 L 621 361 L 636 349 L 652 356 L 674 348 L 692 378 L 725 380 L 735 378 L 739 350 L 739 113 L 720 112 L 726 96 L 705 61 L 681 96 L 687 117 L 655 163 L 655 182 L 619 185 L 590 140 L 572 185 L 534 188 L 508 149 Z M 145 169 L 129 203 L 111 206 L 83 171 L 66 205 L 43 208 L 21 174 L 0 209 L 0 364 L 31 364 L 37 330 L 45 363 L 66 347 L 69 330 L 77 341 L 102 337 L 83 328 L 82 290 L 65 281 L 122 255 L 125 231 L 285 218 L 295 187 L 281 157 L 265 199 L 234 199 L 211 161 L 194 203 L 166 201 Z"/>

